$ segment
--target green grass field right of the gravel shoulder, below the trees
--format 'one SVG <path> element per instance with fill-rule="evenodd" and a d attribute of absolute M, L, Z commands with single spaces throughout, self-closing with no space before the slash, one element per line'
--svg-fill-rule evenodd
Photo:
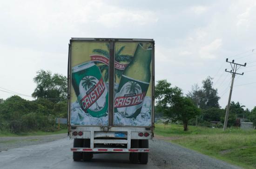
<path fill-rule="evenodd" d="M 219 128 L 189 126 L 189 131 L 183 131 L 182 125 L 166 125 L 164 129 L 163 124 L 155 124 L 155 134 L 180 136 L 170 142 L 243 168 L 256 168 L 256 130 L 228 128 L 223 132 Z"/>

